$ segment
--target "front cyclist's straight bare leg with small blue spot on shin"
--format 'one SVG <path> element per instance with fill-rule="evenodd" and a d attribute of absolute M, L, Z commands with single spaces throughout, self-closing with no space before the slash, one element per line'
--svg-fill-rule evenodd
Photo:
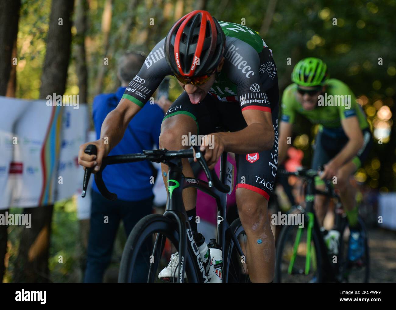
<path fill-rule="evenodd" d="M 271 282 L 275 272 L 275 241 L 268 219 L 268 201 L 246 188 L 236 190 L 239 217 L 247 236 L 246 264 L 252 282 Z"/>

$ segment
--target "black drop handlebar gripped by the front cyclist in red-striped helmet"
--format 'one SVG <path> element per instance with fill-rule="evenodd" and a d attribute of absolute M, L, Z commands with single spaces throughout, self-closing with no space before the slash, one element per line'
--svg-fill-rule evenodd
<path fill-rule="evenodd" d="M 204 170 L 206 177 L 208 178 L 209 187 L 214 186 L 217 190 L 223 193 L 228 193 L 230 191 L 230 186 L 221 183 L 219 178 L 215 173 L 215 169 L 209 170 L 208 164 L 204 159 L 204 154 L 199 150 L 199 146 L 193 146 L 196 154 L 196 159 L 200 163 L 202 169 Z M 114 155 L 107 156 L 103 158 L 103 162 L 100 170 L 95 173 L 95 183 L 99 192 L 103 195 L 103 197 L 109 200 L 116 200 L 117 194 L 109 192 L 107 189 L 103 177 L 102 171 L 105 169 L 107 165 L 113 164 L 125 164 L 131 162 L 140 162 L 142 160 L 150 160 L 151 162 L 166 162 L 167 160 L 175 159 L 175 158 L 194 158 L 194 150 L 178 150 L 178 151 L 168 151 L 165 148 L 159 150 L 143 150 L 143 153 L 136 154 L 125 154 L 125 155 Z M 97 148 L 95 145 L 88 145 L 84 151 L 89 155 L 97 155 Z M 92 168 L 86 168 L 84 172 L 84 181 L 82 185 L 82 197 L 86 196 L 86 190 L 88 187 L 89 177 L 91 176 Z"/>

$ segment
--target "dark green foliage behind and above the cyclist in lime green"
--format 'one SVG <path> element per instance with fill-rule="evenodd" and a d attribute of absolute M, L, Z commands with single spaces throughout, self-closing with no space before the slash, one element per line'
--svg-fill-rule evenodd
<path fill-rule="evenodd" d="M 208 9 L 219 20 L 241 23 L 245 18 L 247 27 L 261 29 L 269 1 L 227 3 L 227 10 L 219 10 L 217 1 L 209 2 Z M 331 77 L 348 84 L 356 97 L 363 99 L 366 113 L 374 108 L 373 113 L 367 113 L 371 114 L 370 124 L 378 122 L 376 112 L 382 105 L 390 107 L 395 115 L 395 11 L 394 0 L 279 0 L 268 33 L 261 35 L 273 51 L 280 94 L 291 83 L 291 71 L 301 58 L 318 57 L 326 62 Z M 333 25 L 335 21 L 337 25 Z M 287 65 L 288 57 L 291 65 Z M 379 65 L 380 57 L 383 65 Z M 381 167 L 363 171 L 367 184 L 383 191 L 396 190 L 396 131 L 392 125 L 391 119 L 387 125 L 392 128 L 390 139 L 384 144 L 375 139 L 367 160 L 371 166 L 370 162 L 379 157 Z M 308 145 L 312 143 L 314 135 L 307 122 L 300 120 L 294 129 L 298 136 L 307 134 Z M 309 165 L 311 149 L 303 150 L 303 164 Z"/>

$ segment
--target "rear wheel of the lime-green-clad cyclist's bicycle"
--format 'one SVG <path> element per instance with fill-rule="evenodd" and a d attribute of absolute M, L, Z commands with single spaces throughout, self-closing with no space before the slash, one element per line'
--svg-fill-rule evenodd
<path fill-rule="evenodd" d="M 359 223 L 362 227 L 363 239 L 364 239 L 364 254 L 357 261 L 348 260 L 348 239 L 350 235 L 348 224 L 344 226 L 343 234 L 341 234 L 340 240 L 340 257 L 341 261 L 341 282 L 350 283 L 367 283 L 369 282 L 370 276 L 370 256 L 368 246 L 368 234 L 366 226 L 362 219 L 359 217 Z"/>

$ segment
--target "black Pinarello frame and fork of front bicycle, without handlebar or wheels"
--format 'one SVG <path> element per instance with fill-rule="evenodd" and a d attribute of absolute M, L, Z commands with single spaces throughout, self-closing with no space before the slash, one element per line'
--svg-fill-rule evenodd
<path fill-rule="evenodd" d="M 168 165 L 168 200 L 166 203 L 166 211 L 164 216 L 173 219 L 179 229 L 179 275 L 178 282 L 184 282 L 184 266 L 185 253 L 188 248 L 196 255 L 198 273 L 200 274 L 200 282 L 208 282 L 208 277 L 206 276 L 206 271 L 204 264 L 201 260 L 200 253 L 198 251 L 198 246 L 196 245 L 192 232 L 190 223 L 187 218 L 187 213 L 185 211 L 183 203 L 183 190 L 185 188 L 196 188 L 205 192 L 209 196 L 215 198 L 217 204 L 217 243 L 221 245 L 223 253 L 223 266 L 224 266 L 224 253 L 225 253 L 225 234 L 228 230 L 232 240 L 234 241 L 238 253 L 240 256 L 244 255 L 238 239 L 236 238 L 234 232 L 230 229 L 230 225 L 226 219 L 227 212 L 227 194 L 224 194 L 214 187 L 209 187 L 208 182 L 202 181 L 196 178 L 186 178 L 182 172 L 181 159 L 175 159 L 167 161 L 165 164 Z M 225 184 L 226 177 L 226 167 L 227 167 L 227 152 L 223 152 L 220 159 L 221 169 L 220 169 L 220 181 Z M 171 184 L 172 183 L 172 184 Z M 219 221 L 219 218 L 221 221 Z M 188 238 L 188 240 L 187 240 Z M 154 249 L 156 249 L 158 239 L 154 243 Z"/>

